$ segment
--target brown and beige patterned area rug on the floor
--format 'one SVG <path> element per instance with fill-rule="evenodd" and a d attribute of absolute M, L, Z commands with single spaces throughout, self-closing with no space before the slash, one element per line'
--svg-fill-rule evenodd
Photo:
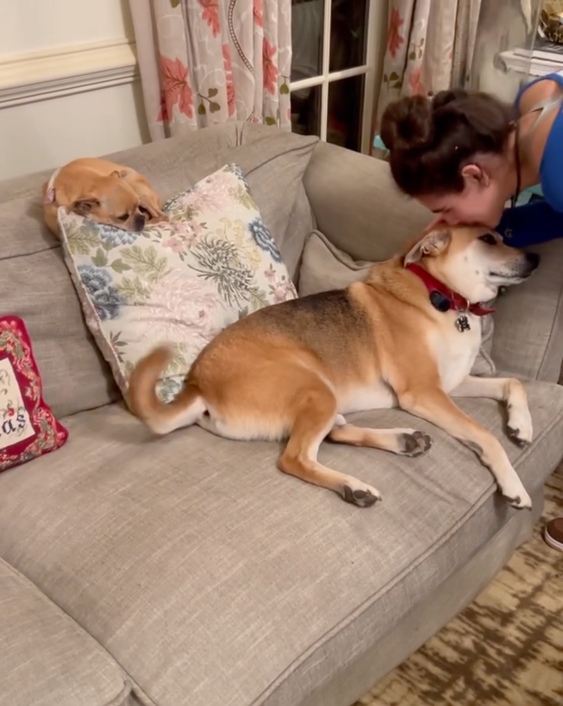
<path fill-rule="evenodd" d="M 541 537 L 563 515 L 563 464 L 542 522 L 494 582 L 354 706 L 562 706 L 563 554 Z"/>

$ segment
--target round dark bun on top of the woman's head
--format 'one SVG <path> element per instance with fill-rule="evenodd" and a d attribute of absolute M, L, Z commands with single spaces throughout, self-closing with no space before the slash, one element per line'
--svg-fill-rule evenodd
<path fill-rule="evenodd" d="M 434 136 L 432 102 L 421 95 L 389 103 L 382 116 L 381 138 L 388 150 L 423 148 Z"/>

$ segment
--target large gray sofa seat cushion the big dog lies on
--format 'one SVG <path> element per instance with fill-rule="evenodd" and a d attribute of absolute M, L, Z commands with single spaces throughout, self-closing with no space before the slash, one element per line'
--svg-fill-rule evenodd
<path fill-rule="evenodd" d="M 528 388 L 535 442 L 496 402 L 461 407 L 502 440 L 531 495 L 563 456 L 563 388 Z M 399 410 L 351 415 L 413 426 Z M 198 427 L 154 438 L 119 405 L 65 420 L 70 441 L 0 476 L 0 554 L 159 706 L 296 705 L 393 630 L 516 510 L 473 454 L 423 421 L 406 460 L 325 443 L 382 491 L 374 508 L 275 469 L 279 446 Z"/>

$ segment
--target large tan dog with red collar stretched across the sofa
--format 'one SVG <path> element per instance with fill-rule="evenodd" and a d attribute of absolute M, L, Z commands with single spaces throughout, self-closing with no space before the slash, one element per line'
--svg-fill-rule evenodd
<path fill-rule="evenodd" d="M 454 397 L 507 405 L 507 433 L 532 441 L 523 385 L 470 371 L 481 342 L 479 302 L 526 280 L 539 257 L 509 248 L 486 229 L 442 229 L 405 256 L 375 265 L 365 282 L 269 306 L 242 318 L 200 353 L 181 393 L 155 393 L 171 359 L 160 347 L 131 376 L 128 402 L 155 433 L 190 424 L 233 439 L 287 438 L 279 468 L 362 507 L 377 489 L 317 461 L 323 439 L 417 456 L 430 437 L 416 429 L 361 429 L 345 414 L 399 406 L 471 448 L 515 508 L 531 499 L 490 431 Z"/>

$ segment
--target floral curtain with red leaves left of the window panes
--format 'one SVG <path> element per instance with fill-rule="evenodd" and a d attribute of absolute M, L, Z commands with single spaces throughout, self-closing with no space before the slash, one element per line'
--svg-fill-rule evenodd
<path fill-rule="evenodd" d="M 152 140 L 226 120 L 291 130 L 291 0 L 129 0 Z"/>

